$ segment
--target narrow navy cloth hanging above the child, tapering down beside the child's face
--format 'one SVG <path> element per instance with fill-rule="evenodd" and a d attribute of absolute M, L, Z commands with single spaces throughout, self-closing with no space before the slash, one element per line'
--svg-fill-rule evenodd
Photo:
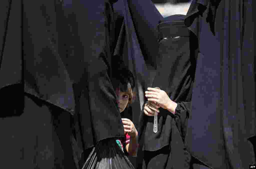
<path fill-rule="evenodd" d="M 116 24 L 116 42 L 113 58 L 121 58 L 126 66 L 132 71 L 136 79 L 134 91 L 137 94 L 131 107 L 133 114 L 131 120 L 135 126 L 138 126 L 139 115 L 137 111 L 140 110 L 140 100 L 144 99 L 144 95 L 139 95 L 139 86 L 141 85 L 145 88 L 148 71 L 134 28 L 135 23 L 131 18 L 131 11 L 129 10 L 127 1 L 118 1 L 113 5 L 113 8 Z"/>

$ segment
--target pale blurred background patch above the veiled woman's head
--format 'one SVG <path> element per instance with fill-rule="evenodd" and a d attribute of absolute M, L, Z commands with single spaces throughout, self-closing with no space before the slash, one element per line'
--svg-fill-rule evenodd
<path fill-rule="evenodd" d="M 152 0 L 158 11 L 167 17 L 175 14 L 186 15 L 191 0 Z"/>

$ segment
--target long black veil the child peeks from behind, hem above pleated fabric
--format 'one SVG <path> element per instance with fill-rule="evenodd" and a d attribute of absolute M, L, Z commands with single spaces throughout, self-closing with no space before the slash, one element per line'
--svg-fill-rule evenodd
<path fill-rule="evenodd" d="M 80 76 L 76 98 L 84 150 L 107 138 L 124 137 L 112 84 L 113 66 L 118 66 L 112 65 L 115 48 L 112 5 L 108 1 L 94 1 L 90 6 L 84 1 L 65 4 L 65 9 L 75 14 L 76 21 L 68 20 L 75 37 L 66 43 L 76 47 L 74 50 L 83 68 L 82 72 L 77 71 Z M 68 57 L 72 59 L 72 55 Z"/>

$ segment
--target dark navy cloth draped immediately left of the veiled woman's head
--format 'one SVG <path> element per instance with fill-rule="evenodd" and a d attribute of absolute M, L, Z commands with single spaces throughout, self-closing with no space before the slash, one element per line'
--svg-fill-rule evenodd
<path fill-rule="evenodd" d="M 157 24 L 163 16 L 150 0 L 128 0 L 141 51 L 147 64 L 156 68 L 158 53 Z"/>

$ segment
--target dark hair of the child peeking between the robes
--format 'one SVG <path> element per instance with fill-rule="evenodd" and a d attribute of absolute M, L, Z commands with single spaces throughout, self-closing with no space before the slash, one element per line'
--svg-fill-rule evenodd
<path fill-rule="evenodd" d="M 129 107 L 135 99 L 134 76 L 121 60 L 115 61 L 113 67 L 113 87 L 115 90 L 126 92 L 129 95 L 129 102 L 127 104 L 127 107 Z"/>

